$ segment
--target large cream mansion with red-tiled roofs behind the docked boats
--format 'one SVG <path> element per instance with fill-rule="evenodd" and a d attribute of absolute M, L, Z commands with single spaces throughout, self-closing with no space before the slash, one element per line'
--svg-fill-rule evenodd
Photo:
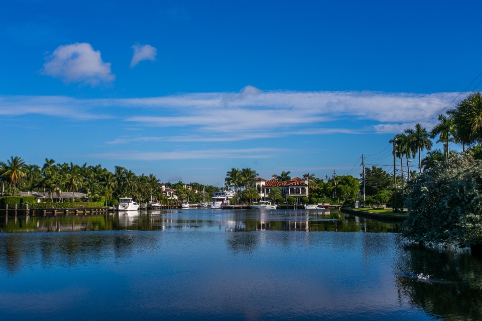
<path fill-rule="evenodd" d="M 301 203 L 301 198 L 308 197 L 308 175 L 303 175 L 303 179 L 295 177 L 288 182 L 281 182 L 276 179 L 276 175 L 273 175 L 273 179 L 267 181 L 260 177 L 256 178 L 252 182 L 253 186 L 258 190 L 260 199 L 262 201 L 268 201 L 268 195 L 272 187 L 277 186 L 281 190 L 281 194 L 285 199 L 294 197 L 296 203 Z"/>

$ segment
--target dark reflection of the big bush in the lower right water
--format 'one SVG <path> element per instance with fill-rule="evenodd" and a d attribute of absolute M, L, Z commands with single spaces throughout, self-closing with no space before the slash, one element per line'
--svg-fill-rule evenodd
<path fill-rule="evenodd" d="M 410 303 L 444 319 L 482 319 L 482 261 L 466 253 L 406 247 L 397 269 L 431 275 L 430 282 L 397 275 Z"/>

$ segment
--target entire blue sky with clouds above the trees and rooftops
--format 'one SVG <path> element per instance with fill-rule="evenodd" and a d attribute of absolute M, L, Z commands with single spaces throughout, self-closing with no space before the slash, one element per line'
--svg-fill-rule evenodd
<path fill-rule="evenodd" d="M 481 7 L 2 1 L 0 159 L 163 182 L 219 184 L 231 167 L 356 176 L 362 153 L 482 71 Z"/>

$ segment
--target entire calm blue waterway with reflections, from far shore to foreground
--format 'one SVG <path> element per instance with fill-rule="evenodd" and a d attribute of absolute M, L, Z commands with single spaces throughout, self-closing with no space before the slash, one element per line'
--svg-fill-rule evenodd
<path fill-rule="evenodd" d="M 482 261 L 406 246 L 399 228 L 304 210 L 3 219 L 0 315 L 482 319 Z"/>

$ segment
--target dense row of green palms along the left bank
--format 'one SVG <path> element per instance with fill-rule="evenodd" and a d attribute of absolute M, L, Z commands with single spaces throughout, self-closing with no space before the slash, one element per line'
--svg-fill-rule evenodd
<path fill-rule="evenodd" d="M 28 165 L 18 156 L 0 162 L 0 184 L 4 196 L 18 196 L 20 191 L 36 191 L 48 193 L 51 202 L 58 201 L 61 192 L 71 192 L 72 202 L 75 201 L 75 192 L 86 194 L 89 201 L 105 197 L 106 205 L 116 205 L 120 197 L 132 197 L 137 202 L 168 198 L 163 194 L 161 182 L 153 174 L 136 175 L 121 166 L 115 166 L 112 173 L 100 164 L 60 164 L 49 158 L 45 158 L 42 167 Z M 200 201 L 203 197 L 203 185 L 199 183 L 186 185 L 178 182 L 167 183 L 166 186 L 177 189 L 180 200 L 190 197 L 192 201 Z M 189 189 L 189 186 L 192 188 Z M 198 190 L 197 194 L 195 190 Z M 218 188 L 207 185 L 205 190 L 208 198 Z"/>

